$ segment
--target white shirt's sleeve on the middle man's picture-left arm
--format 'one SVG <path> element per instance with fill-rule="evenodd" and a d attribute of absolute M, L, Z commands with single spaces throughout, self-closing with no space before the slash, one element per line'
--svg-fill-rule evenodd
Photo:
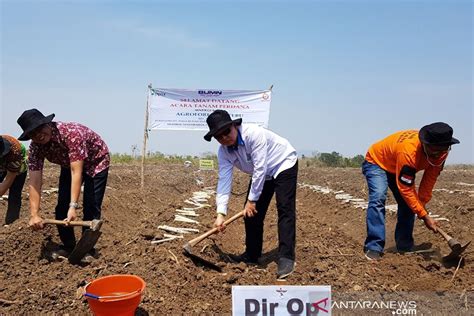
<path fill-rule="evenodd" d="M 227 205 L 232 190 L 232 176 L 234 165 L 225 153 L 224 146 L 219 147 L 217 160 L 219 164 L 219 181 L 217 182 L 216 204 L 217 213 L 227 215 Z"/>

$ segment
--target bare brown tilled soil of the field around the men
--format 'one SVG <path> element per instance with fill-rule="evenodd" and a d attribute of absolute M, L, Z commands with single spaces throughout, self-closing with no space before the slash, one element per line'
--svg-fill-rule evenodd
<path fill-rule="evenodd" d="M 261 265 L 235 264 L 227 256 L 244 250 L 242 221 L 196 246 L 200 255 L 219 263 L 223 272 L 218 273 L 196 265 L 183 255 L 183 244 L 197 233 L 187 234 L 184 239 L 151 243 L 153 239 L 163 238 L 159 225 L 197 228 L 200 233 L 212 228 L 213 208 L 197 210 L 199 225 L 175 222 L 174 218 L 176 209 L 193 207 L 185 202 L 193 192 L 215 187 L 216 172 L 169 164 L 147 165 L 146 170 L 146 188 L 142 191 L 138 165 L 111 167 L 103 204 L 99 258 L 90 265 L 49 261 L 48 253 L 59 242 L 56 228 L 47 227 L 41 232 L 27 228 L 29 214 L 25 199 L 21 219 L 0 229 L 0 312 L 88 313 L 87 302 L 78 293 L 81 287 L 97 277 L 119 273 L 136 274 L 147 282 L 138 314 L 230 314 L 233 285 L 276 284 L 278 243 L 274 203 L 265 223 Z M 44 174 L 47 179 L 43 188 L 57 187 L 58 169 L 51 166 Z M 474 239 L 474 197 L 469 191 L 474 189 L 459 183 L 472 183 L 473 176 L 473 171 L 444 171 L 429 204 L 430 210 L 449 219 L 441 223 L 443 228 L 462 241 Z M 234 178 L 230 213 L 241 210 L 249 181 L 241 173 Z M 359 169 L 302 167 L 299 182 L 367 199 L 365 179 Z M 43 196 L 44 217 L 54 217 L 56 198 L 55 193 Z M 211 198 L 209 204 L 214 203 Z M 391 197 L 390 203 L 394 203 Z M 4 218 L 5 210 L 6 202 L 0 201 L 0 217 Z M 468 250 L 456 272 L 458 262 L 446 264 L 441 259 L 449 252 L 446 242 L 417 222 L 416 242 L 425 243 L 434 252 L 398 254 L 393 241 L 396 215 L 389 213 L 386 254 L 381 262 L 373 264 L 362 253 L 365 210 L 336 199 L 334 194 L 301 187 L 297 216 L 297 267 L 288 285 L 331 285 L 333 299 L 409 296 L 417 300 L 418 312 L 472 312 L 474 247 Z M 342 308 L 339 311 L 352 313 Z"/>

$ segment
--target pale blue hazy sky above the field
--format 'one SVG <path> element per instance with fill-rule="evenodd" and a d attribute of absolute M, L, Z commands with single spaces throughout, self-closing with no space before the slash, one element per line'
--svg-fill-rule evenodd
<path fill-rule="evenodd" d="M 0 133 L 37 107 L 112 152 L 141 148 L 146 86 L 263 90 L 300 153 L 365 154 L 445 121 L 474 163 L 471 1 L 11 1 L 1 5 Z M 205 132 L 152 131 L 149 150 L 216 152 Z"/>

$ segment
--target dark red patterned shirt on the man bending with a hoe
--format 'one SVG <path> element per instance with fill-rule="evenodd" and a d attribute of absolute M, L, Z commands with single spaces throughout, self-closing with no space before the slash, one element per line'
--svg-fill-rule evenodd
<path fill-rule="evenodd" d="M 44 159 L 69 168 L 71 162 L 84 161 L 84 172 L 93 177 L 110 165 L 109 149 L 100 136 L 79 123 L 50 123 L 51 140 L 30 144 L 29 170 L 43 169 Z"/>

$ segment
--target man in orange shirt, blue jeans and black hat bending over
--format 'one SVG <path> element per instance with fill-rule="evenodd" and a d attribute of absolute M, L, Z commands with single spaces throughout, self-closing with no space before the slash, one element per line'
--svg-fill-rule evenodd
<path fill-rule="evenodd" d="M 362 173 L 369 187 L 367 238 L 364 244 L 368 260 L 379 260 L 385 247 L 385 200 L 390 188 L 398 204 L 395 242 L 400 252 L 411 251 L 414 245 L 415 214 L 428 229 L 437 232 L 436 222 L 425 205 L 452 144 L 459 144 L 453 129 L 437 122 L 416 130 L 400 131 L 373 144 L 362 164 Z M 418 192 L 415 175 L 424 170 Z"/>

